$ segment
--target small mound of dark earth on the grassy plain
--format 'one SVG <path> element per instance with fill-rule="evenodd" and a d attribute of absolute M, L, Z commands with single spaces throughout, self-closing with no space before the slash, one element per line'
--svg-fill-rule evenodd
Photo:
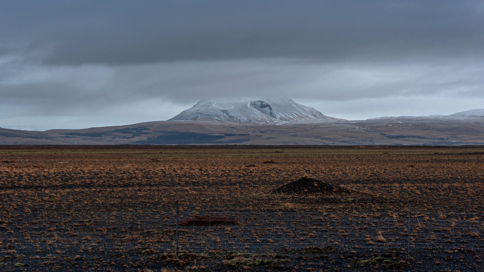
<path fill-rule="evenodd" d="M 314 194 L 323 195 L 350 193 L 350 190 L 338 185 L 329 184 L 324 181 L 304 176 L 297 181 L 291 181 L 275 189 L 276 193 L 283 194 Z"/>

